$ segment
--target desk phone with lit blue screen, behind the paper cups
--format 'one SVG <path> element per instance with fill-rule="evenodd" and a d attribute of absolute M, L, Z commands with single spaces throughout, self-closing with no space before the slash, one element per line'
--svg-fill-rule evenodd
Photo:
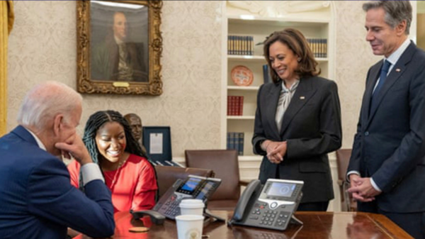
<path fill-rule="evenodd" d="M 174 219 L 180 215 L 179 204 L 183 199 L 200 199 L 206 207 L 208 198 L 220 186 L 221 179 L 188 175 L 187 179 L 177 179 L 154 206 L 154 211 L 166 218 Z"/>

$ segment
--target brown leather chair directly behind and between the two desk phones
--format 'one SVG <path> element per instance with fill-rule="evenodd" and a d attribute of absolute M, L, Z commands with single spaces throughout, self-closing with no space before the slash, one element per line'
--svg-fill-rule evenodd
<path fill-rule="evenodd" d="M 239 180 L 239 162 L 236 150 L 186 150 L 186 166 L 212 169 L 215 177 L 222 179 L 220 187 L 208 199 L 210 210 L 234 210 L 241 194 L 241 186 L 248 182 Z"/>

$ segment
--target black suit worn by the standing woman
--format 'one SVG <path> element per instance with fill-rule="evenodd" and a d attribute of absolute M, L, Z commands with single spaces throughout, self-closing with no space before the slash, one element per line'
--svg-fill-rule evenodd
<path fill-rule="evenodd" d="M 281 82 L 263 84 L 257 96 L 254 153 L 263 140 L 284 141 L 288 150 L 283 162 L 272 164 L 263 157 L 259 179 L 295 179 L 305 182 L 302 202 L 334 198 L 327 153 L 341 147 L 341 111 L 336 84 L 321 77 L 303 78 L 283 116 L 278 132 L 275 115 Z"/>

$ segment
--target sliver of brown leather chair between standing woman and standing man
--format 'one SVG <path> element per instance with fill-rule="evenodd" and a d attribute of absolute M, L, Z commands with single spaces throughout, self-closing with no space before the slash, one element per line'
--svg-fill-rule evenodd
<path fill-rule="evenodd" d="M 336 150 L 336 166 L 338 167 L 338 185 L 341 194 L 341 211 L 357 211 L 357 203 L 348 194 L 350 184 L 346 180 L 348 162 L 350 162 L 351 149 Z"/>

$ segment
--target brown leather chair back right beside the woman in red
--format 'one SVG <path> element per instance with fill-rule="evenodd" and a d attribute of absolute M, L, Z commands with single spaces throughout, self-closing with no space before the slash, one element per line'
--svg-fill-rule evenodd
<path fill-rule="evenodd" d="M 192 167 L 171 167 L 171 166 L 155 166 L 158 178 L 159 198 L 165 194 L 177 179 L 186 179 L 189 174 L 214 177 L 211 169 L 197 169 Z"/>

